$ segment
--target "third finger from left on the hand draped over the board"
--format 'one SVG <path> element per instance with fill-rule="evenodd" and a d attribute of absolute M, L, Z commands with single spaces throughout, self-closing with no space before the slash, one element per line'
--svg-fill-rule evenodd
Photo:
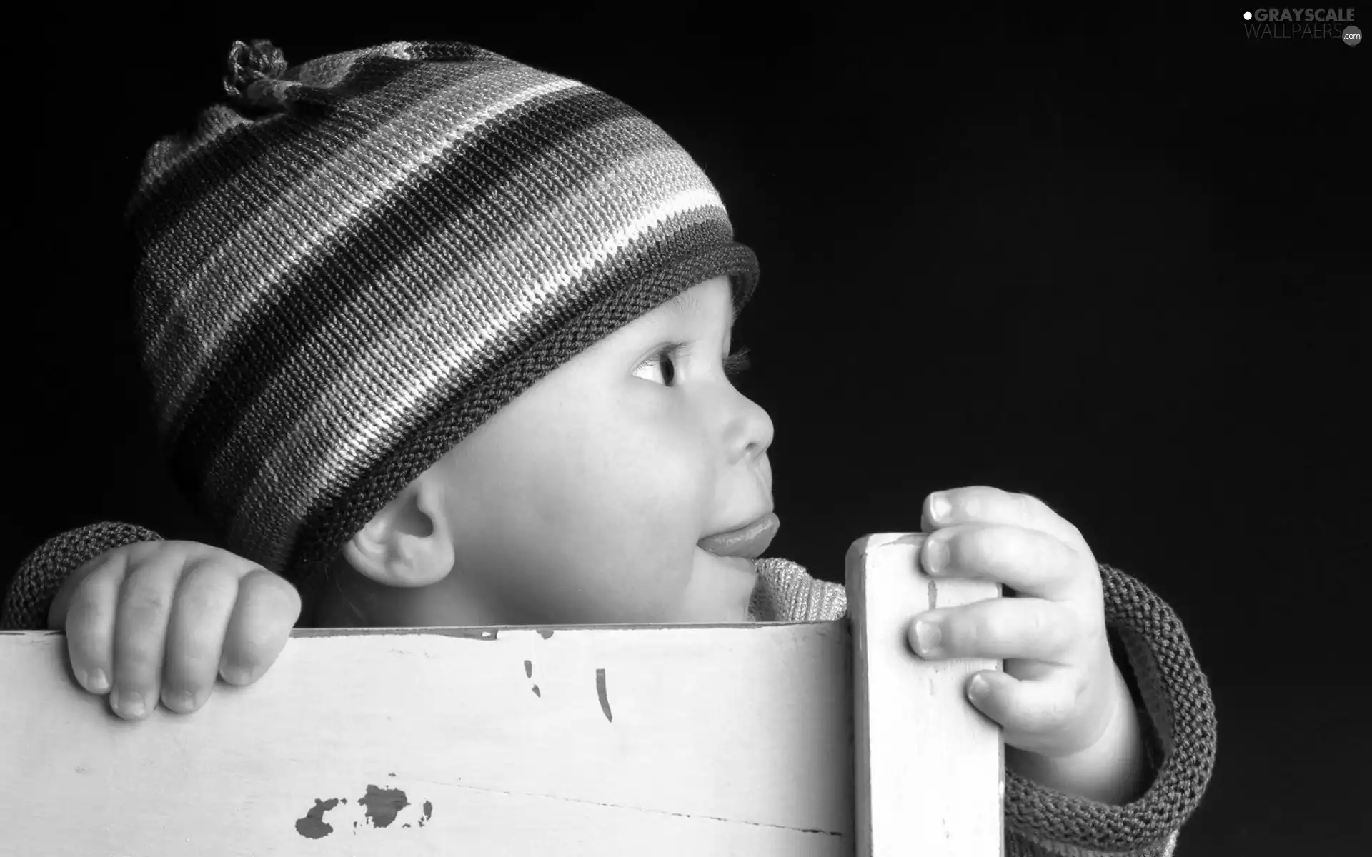
<path fill-rule="evenodd" d="M 162 672 L 162 702 L 173 712 L 195 712 L 214 691 L 241 576 L 215 559 L 195 562 L 182 573 L 167 623 Z"/>

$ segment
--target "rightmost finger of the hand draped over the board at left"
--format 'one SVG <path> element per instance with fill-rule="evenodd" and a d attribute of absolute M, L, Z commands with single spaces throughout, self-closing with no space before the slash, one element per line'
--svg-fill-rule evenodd
<path fill-rule="evenodd" d="M 285 649 L 299 617 L 300 594 L 295 587 L 266 569 L 246 575 L 224 636 L 224 680 L 239 686 L 257 681 Z"/>

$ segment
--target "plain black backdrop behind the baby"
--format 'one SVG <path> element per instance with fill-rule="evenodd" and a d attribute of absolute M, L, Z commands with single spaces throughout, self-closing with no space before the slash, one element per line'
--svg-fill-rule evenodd
<path fill-rule="evenodd" d="M 930 491 L 1037 495 L 1176 609 L 1210 676 L 1218 764 L 1177 853 L 1365 835 L 1343 784 L 1369 758 L 1350 658 L 1369 570 L 1354 407 L 1372 47 L 1249 41 L 1239 7 L 836 8 L 29 33 L 8 70 L 32 191 L 11 245 L 0 586 L 97 520 L 215 540 L 155 458 L 118 215 L 147 147 L 220 97 L 230 43 L 269 37 L 298 63 L 473 41 L 654 119 L 757 251 L 735 343 L 755 366 L 740 388 L 777 425 L 774 555 L 841 580 L 848 544 L 918 529 Z"/>

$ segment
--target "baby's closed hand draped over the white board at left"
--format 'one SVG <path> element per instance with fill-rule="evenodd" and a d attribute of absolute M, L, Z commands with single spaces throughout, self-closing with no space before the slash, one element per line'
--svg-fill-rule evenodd
<path fill-rule="evenodd" d="M 199 709 L 217 675 L 251 684 L 299 616 L 295 587 L 254 562 L 196 542 L 140 542 L 73 572 L 48 628 L 66 631 L 84 688 L 141 720 L 159 698 L 173 712 Z"/>

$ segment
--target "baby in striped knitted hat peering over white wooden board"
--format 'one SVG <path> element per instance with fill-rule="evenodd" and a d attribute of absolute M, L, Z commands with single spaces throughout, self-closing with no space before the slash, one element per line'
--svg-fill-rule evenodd
<path fill-rule="evenodd" d="M 298 621 L 844 616 L 841 587 L 760 558 L 774 426 L 730 383 L 757 265 L 661 129 L 464 44 L 288 67 L 237 43 L 225 89 L 148 154 L 130 219 L 163 444 L 229 550 L 59 536 L 4 627 L 45 612 L 137 720 L 252 683 Z M 927 573 L 1013 590 L 910 631 L 1006 660 L 967 692 L 1003 727 L 1007 853 L 1172 853 L 1214 725 L 1170 609 L 1032 496 L 936 492 L 921 527 Z"/>

